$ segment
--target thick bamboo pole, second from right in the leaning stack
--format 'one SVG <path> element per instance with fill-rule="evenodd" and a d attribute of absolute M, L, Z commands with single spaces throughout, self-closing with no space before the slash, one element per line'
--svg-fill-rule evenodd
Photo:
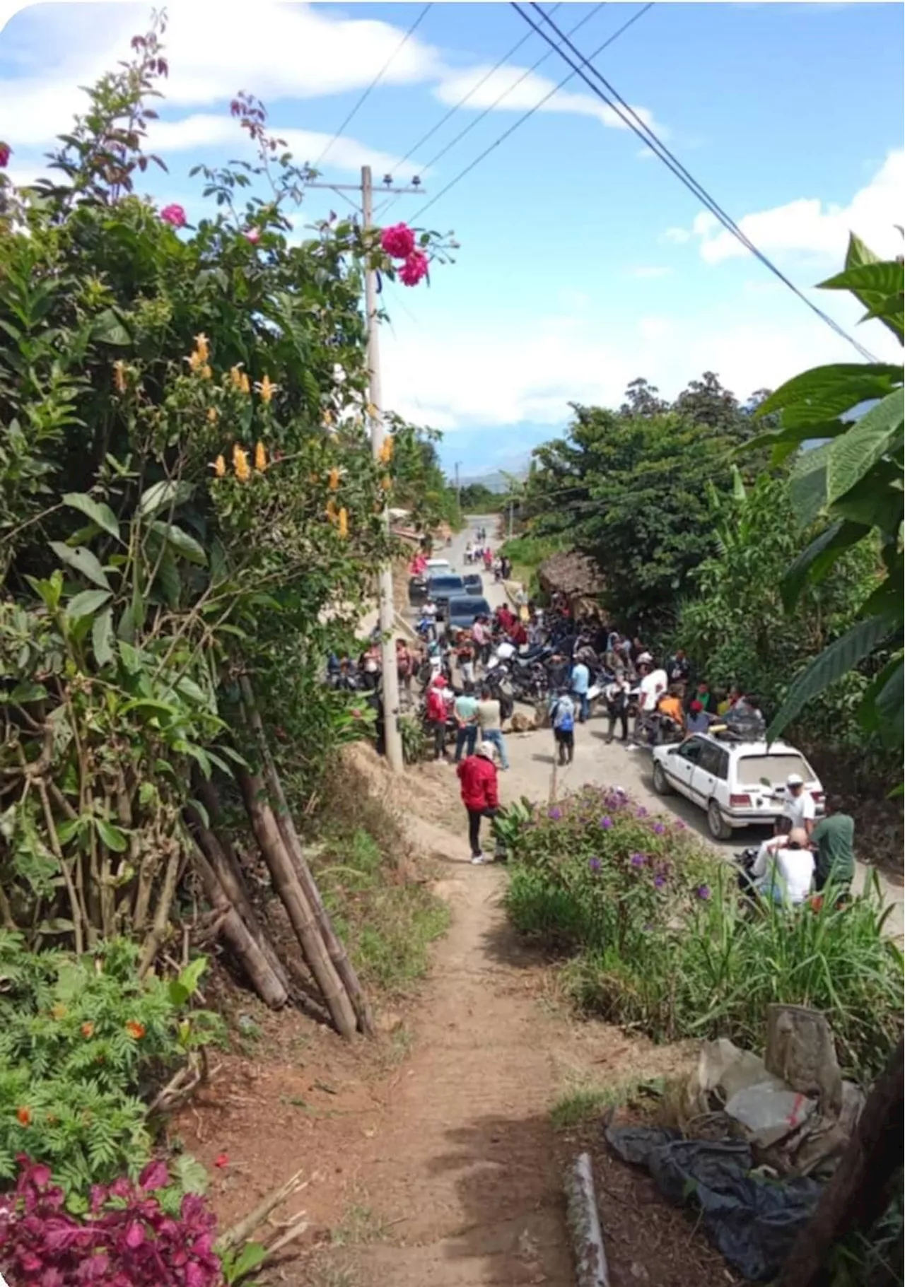
<path fill-rule="evenodd" d="M 247 768 L 237 768 L 236 780 L 251 819 L 255 839 L 305 955 L 305 964 L 321 988 L 337 1032 L 351 1039 L 357 1026 L 351 1000 L 333 968 L 312 906 L 283 844 L 277 819 L 268 799 L 266 786 L 260 775 L 251 773 Z"/>

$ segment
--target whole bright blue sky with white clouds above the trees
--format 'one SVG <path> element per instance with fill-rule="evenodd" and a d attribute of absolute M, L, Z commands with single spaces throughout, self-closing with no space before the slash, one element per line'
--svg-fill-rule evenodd
<path fill-rule="evenodd" d="M 421 5 L 274 5 L 175 0 L 171 77 L 151 178 L 161 205 L 201 212 L 188 179 L 201 160 L 239 153 L 228 121 L 238 89 L 256 93 L 299 160 L 314 160 L 398 48 Z M 608 4 L 575 35 L 590 53 L 639 5 Z M 592 6 L 564 4 L 570 30 Z M 148 9 L 42 4 L 0 35 L 0 139 L 12 172 L 40 170 L 51 136 L 77 109 L 77 86 L 125 55 Z M 902 90 L 888 75 L 901 4 L 657 4 L 597 60 L 619 93 L 801 287 L 841 261 L 848 228 L 897 254 L 905 223 Z M 556 54 L 426 172 L 478 112 L 546 46 L 532 35 L 412 161 L 395 161 L 528 27 L 506 4 L 434 4 L 384 81 L 324 161 L 350 183 L 372 162 L 438 193 L 521 112 L 568 75 Z M 457 263 L 430 288 L 389 287 L 382 336 L 385 402 L 444 432 L 443 458 L 463 474 L 518 466 L 561 432 L 569 402 L 618 403 L 646 376 L 676 394 L 704 369 L 740 396 L 807 366 L 855 360 L 725 234 L 698 201 L 574 80 L 418 218 L 454 230 Z M 312 192 L 306 214 L 339 198 Z M 305 211 L 303 211 L 304 216 Z M 850 329 L 859 309 L 815 293 Z M 878 356 L 900 350 L 875 323 L 857 328 Z"/>

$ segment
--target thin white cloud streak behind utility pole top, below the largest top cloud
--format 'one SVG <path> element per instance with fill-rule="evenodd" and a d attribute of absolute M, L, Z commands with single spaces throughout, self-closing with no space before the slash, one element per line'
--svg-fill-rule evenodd
<path fill-rule="evenodd" d="M 331 143 L 331 134 L 317 130 L 283 129 L 275 122 L 270 125 L 275 138 L 283 139 L 294 158 L 301 163 L 314 162 Z M 166 156 L 170 152 L 189 152 L 194 148 L 215 144 L 233 144 L 237 156 L 246 153 L 250 144 L 238 124 L 227 113 L 219 116 L 206 112 L 185 116 L 180 121 L 154 121 L 148 130 L 148 148 Z M 381 174 L 393 171 L 399 165 L 399 157 L 381 152 L 358 139 L 340 135 L 330 148 L 330 165 L 337 170 L 359 170 L 363 165 L 373 166 Z"/>

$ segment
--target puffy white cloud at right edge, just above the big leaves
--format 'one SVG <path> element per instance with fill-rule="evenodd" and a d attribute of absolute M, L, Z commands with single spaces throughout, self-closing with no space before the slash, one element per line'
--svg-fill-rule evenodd
<path fill-rule="evenodd" d="M 899 255 L 902 238 L 893 225 L 905 223 L 905 149 L 890 152 L 870 183 L 860 188 L 847 206 L 824 203 L 819 197 L 799 197 L 745 215 L 738 223 L 767 255 L 808 255 L 839 263 L 850 232 L 857 233 L 881 256 Z M 707 211 L 695 218 L 690 233 L 668 229 L 664 234 L 664 239 L 675 242 L 691 237 L 698 238 L 700 255 L 708 264 L 749 254 Z"/>

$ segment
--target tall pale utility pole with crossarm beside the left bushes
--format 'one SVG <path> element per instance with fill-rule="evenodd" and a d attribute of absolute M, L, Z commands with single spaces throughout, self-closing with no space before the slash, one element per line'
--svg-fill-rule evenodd
<path fill-rule="evenodd" d="M 362 166 L 362 183 L 308 183 L 306 188 L 328 188 L 331 192 L 355 192 L 362 199 L 362 225 L 364 232 L 373 224 L 373 180 L 371 166 Z M 411 188 L 394 188 L 387 175 L 381 194 L 418 193 L 425 196 L 418 180 Z M 380 320 L 377 318 L 377 274 L 372 268 L 364 272 L 364 319 L 368 332 L 368 423 L 371 426 L 371 450 L 380 459 L 384 447 L 384 408 L 380 385 Z M 389 534 L 390 510 L 384 506 L 384 526 Z M 384 737 L 386 741 L 386 761 L 394 773 L 403 770 L 402 735 L 399 732 L 399 672 L 397 671 L 397 646 L 393 629 L 393 566 L 386 562 L 377 574 L 377 604 L 380 611 L 382 687 L 384 687 Z"/>

